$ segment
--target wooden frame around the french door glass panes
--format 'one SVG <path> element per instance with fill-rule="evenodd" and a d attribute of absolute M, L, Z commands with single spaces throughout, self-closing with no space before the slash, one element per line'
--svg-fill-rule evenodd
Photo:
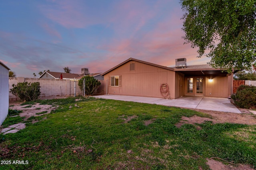
<path fill-rule="evenodd" d="M 192 93 L 188 92 L 188 78 L 193 78 L 193 85 L 192 85 Z M 197 78 L 203 78 L 202 80 L 202 93 L 197 93 L 196 90 L 198 88 L 197 85 Z M 205 76 L 187 76 L 185 77 L 184 81 L 184 91 L 185 95 L 187 96 L 204 96 L 205 94 Z"/>

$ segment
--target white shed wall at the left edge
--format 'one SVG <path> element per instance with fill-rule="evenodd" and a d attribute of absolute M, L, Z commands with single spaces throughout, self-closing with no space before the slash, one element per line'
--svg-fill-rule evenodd
<path fill-rule="evenodd" d="M 8 115 L 9 108 L 9 70 L 4 63 L 0 61 L 0 125 Z"/>

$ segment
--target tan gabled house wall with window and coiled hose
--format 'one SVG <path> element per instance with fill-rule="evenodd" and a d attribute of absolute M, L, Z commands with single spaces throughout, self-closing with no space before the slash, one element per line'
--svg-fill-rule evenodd
<path fill-rule="evenodd" d="M 130 71 L 130 63 L 135 69 Z M 111 76 L 119 76 L 119 86 L 111 86 Z M 167 83 L 169 95 L 175 98 L 175 72 L 157 66 L 131 61 L 104 75 L 104 82 L 108 84 L 108 94 L 122 94 L 132 96 L 160 97 L 160 85 Z M 104 89 L 106 94 L 106 89 Z"/>

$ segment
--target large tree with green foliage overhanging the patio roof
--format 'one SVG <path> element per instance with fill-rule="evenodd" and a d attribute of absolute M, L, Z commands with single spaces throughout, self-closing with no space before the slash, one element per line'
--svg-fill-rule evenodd
<path fill-rule="evenodd" d="M 250 68 L 256 61 L 255 0 L 180 0 L 185 12 L 183 37 L 205 52 L 210 64 L 232 71 Z"/>

